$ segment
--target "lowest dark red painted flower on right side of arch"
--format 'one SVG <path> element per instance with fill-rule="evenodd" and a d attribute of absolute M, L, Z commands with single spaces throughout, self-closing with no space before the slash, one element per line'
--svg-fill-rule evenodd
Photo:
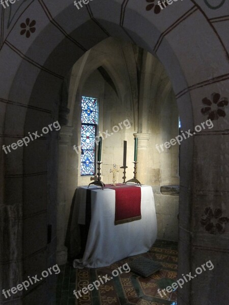
<path fill-rule="evenodd" d="M 206 207 L 205 214 L 201 218 L 201 224 L 210 234 L 223 234 L 229 218 L 221 216 L 222 210 L 220 208 L 216 208 L 213 212 L 211 207 Z"/>

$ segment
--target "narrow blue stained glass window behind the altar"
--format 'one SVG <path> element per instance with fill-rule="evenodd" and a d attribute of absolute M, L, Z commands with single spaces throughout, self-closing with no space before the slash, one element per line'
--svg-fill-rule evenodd
<path fill-rule="evenodd" d="M 98 105 L 97 99 L 82 97 L 81 176 L 95 175 Z"/>

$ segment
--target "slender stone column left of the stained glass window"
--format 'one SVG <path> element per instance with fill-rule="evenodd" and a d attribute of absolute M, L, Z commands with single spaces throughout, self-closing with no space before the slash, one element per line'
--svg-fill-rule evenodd
<path fill-rule="evenodd" d="M 72 127 L 63 126 L 60 131 L 59 157 L 58 157 L 58 206 L 57 206 L 57 263 L 67 262 L 67 248 L 64 246 L 66 236 L 66 199 L 68 188 L 68 146 L 71 143 Z"/>

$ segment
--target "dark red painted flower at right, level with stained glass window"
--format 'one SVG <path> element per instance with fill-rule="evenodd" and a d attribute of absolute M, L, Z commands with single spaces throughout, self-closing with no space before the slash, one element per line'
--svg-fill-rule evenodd
<path fill-rule="evenodd" d="M 219 93 L 213 93 L 211 99 L 212 101 L 208 98 L 202 100 L 207 107 L 202 108 L 201 112 L 208 115 L 208 119 L 211 120 L 218 119 L 220 116 L 224 117 L 226 114 L 222 108 L 228 105 L 227 98 L 221 98 Z"/>

